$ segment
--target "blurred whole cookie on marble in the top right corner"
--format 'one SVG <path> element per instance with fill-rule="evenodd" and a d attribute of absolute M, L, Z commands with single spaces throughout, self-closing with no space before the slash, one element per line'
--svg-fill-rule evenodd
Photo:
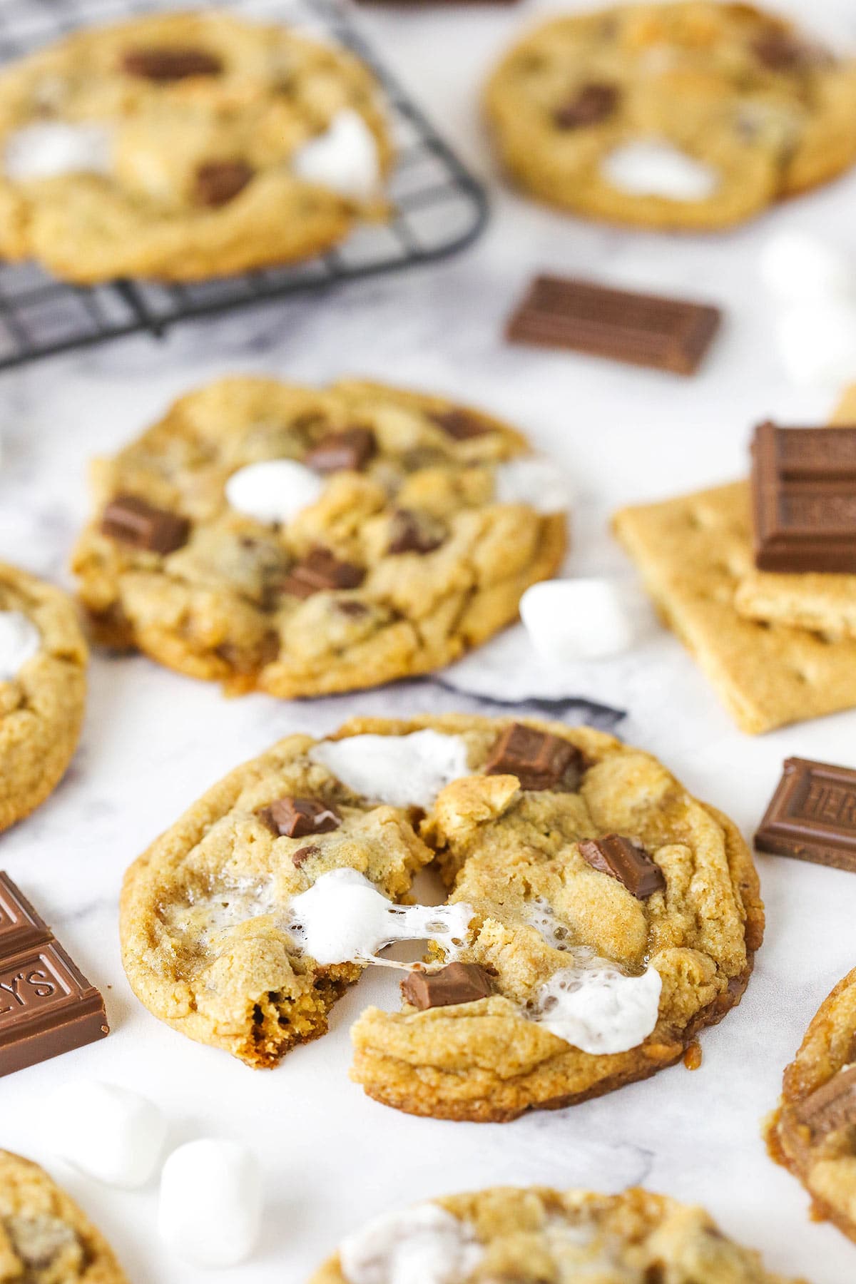
<path fill-rule="evenodd" d="M 506 54 L 485 107 L 518 186 L 643 227 L 728 227 L 856 159 L 856 63 L 751 4 L 556 18 Z"/>

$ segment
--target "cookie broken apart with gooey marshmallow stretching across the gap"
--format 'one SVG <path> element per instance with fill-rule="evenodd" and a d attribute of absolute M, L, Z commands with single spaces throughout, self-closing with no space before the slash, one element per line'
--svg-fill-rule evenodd
<path fill-rule="evenodd" d="M 430 863 L 448 901 L 407 904 Z M 141 1002 L 254 1067 L 322 1035 L 366 966 L 402 968 L 402 1011 L 353 1027 L 352 1075 L 453 1120 L 674 1063 L 739 1002 L 762 932 L 738 831 L 651 755 L 470 715 L 280 741 L 140 856 L 121 903 Z M 426 960 L 386 960 L 399 940 Z"/>

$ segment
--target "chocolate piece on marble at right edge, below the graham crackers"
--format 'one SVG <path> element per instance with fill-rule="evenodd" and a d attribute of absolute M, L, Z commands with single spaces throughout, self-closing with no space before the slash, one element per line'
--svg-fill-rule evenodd
<path fill-rule="evenodd" d="M 785 759 L 755 846 L 856 872 L 856 770 L 806 758 Z"/>

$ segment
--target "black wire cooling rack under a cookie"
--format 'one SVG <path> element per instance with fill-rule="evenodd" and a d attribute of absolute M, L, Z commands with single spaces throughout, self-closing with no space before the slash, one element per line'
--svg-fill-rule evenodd
<path fill-rule="evenodd" d="M 0 0 L 0 62 L 74 27 L 205 6 L 205 0 Z M 302 263 L 190 285 L 135 280 L 80 289 L 32 263 L 0 263 L 0 370 L 141 330 L 162 335 L 191 317 L 429 263 L 463 249 L 483 230 L 484 190 L 379 64 L 341 0 L 232 0 L 223 8 L 332 39 L 373 69 L 385 90 L 397 145 L 388 184 L 391 218 L 362 225 L 335 249 Z"/>

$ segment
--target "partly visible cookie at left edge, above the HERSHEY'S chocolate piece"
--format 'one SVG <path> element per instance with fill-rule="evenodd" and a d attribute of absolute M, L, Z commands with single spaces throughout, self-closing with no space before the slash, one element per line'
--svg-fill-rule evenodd
<path fill-rule="evenodd" d="M 63 778 L 83 722 L 87 659 L 65 593 L 0 562 L 0 829 Z"/>

